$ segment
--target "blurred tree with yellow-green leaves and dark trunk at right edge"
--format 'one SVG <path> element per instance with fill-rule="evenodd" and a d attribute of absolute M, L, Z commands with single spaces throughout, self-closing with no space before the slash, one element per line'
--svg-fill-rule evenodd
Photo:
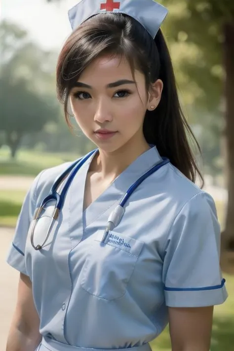
<path fill-rule="evenodd" d="M 198 87 L 195 102 L 216 117 L 225 115 L 229 201 L 221 264 L 225 271 L 234 273 L 234 1 L 159 2 L 171 13 L 166 24 L 170 41 L 194 51 L 192 59 L 187 55 L 180 58 L 179 67 L 188 77 L 187 83 Z"/>

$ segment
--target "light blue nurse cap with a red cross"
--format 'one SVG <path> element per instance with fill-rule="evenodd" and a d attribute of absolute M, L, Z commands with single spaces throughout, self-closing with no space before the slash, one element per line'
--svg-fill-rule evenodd
<path fill-rule="evenodd" d="M 168 10 L 154 0 L 81 0 L 68 14 L 72 29 L 76 30 L 88 18 L 106 12 L 135 18 L 154 39 Z"/>

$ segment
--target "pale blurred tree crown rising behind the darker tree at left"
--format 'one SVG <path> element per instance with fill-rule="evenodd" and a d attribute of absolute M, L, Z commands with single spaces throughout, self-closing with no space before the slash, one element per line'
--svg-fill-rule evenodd
<path fill-rule="evenodd" d="M 0 23 L 0 77 L 23 78 L 30 89 L 56 97 L 55 64 L 57 52 L 44 51 L 31 42 L 28 33 L 14 23 Z"/>

